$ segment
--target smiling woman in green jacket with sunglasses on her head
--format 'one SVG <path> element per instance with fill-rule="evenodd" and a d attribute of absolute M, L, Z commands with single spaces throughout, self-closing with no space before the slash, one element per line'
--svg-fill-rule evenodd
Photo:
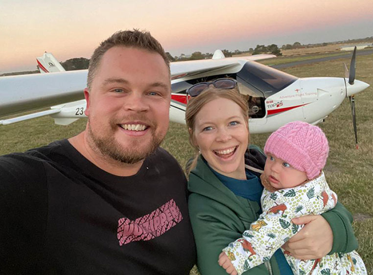
<path fill-rule="evenodd" d="M 261 213 L 265 156 L 256 146 L 247 150 L 248 107 L 235 87 L 234 80 L 220 79 L 187 91 L 192 96 L 186 111 L 190 142 L 199 152 L 189 174 L 188 205 L 202 275 L 226 274 L 217 262 L 220 252 Z M 284 245 L 295 257 L 315 259 L 357 248 L 351 214 L 341 204 L 322 216 L 300 219 L 310 222 Z M 280 250 L 244 274 L 249 273 L 292 274 Z"/>

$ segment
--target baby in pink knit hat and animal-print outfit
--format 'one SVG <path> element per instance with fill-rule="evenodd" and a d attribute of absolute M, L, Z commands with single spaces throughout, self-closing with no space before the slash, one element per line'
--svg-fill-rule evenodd
<path fill-rule="evenodd" d="M 268 138 L 262 214 L 242 238 L 229 244 L 219 256 L 219 264 L 231 275 L 242 274 L 269 261 L 271 256 L 303 226 L 291 219 L 319 215 L 335 206 L 337 195 L 330 190 L 324 172 L 329 146 L 322 130 L 311 124 L 290 122 Z M 315 260 L 299 260 L 284 252 L 294 274 L 367 274 L 355 251 L 334 253 Z"/>

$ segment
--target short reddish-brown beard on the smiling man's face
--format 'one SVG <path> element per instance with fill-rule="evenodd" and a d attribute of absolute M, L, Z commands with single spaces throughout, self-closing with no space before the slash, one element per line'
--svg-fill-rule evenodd
<path fill-rule="evenodd" d="M 123 146 L 114 138 L 115 131 L 118 131 L 117 123 L 110 121 L 110 125 L 112 131 L 100 137 L 93 132 L 91 123 L 88 122 L 89 140 L 91 140 L 89 143 L 93 142 L 94 144 L 91 144 L 91 147 L 97 148 L 102 155 L 123 163 L 134 164 L 140 160 L 144 160 L 157 149 L 164 138 L 162 134 L 155 133 L 155 129 L 157 129 L 156 124 L 147 122 L 147 125 L 150 126 L 149 130 L 152 131 L 151 141 L 143 147 L 143 141 L 139 138 L 138 140 L 135 139 L 131 144 L 128 144 L 128 146 Z"/>

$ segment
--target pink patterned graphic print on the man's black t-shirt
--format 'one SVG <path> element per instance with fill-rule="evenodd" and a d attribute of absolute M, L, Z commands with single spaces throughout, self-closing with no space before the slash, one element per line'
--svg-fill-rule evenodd
<path fill-rule="evenodd" d="M 183 216 L 174 200 L 143 217 L 131 221 L 128 218 L 118 220 L 117 238 L 119 245 L 130 242 L 148 241 L 159 237 L 183 220 Z"/>

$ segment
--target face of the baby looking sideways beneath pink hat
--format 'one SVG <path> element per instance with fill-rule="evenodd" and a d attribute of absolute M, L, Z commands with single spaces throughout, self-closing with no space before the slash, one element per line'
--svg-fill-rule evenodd
<path fill-rule="evenodd" d="M 286 161 L 268 155 L 265 162 L 264 174 L 277 189 L 291 188 L 307 181 L 305 172 L 295 169 Z"/>

